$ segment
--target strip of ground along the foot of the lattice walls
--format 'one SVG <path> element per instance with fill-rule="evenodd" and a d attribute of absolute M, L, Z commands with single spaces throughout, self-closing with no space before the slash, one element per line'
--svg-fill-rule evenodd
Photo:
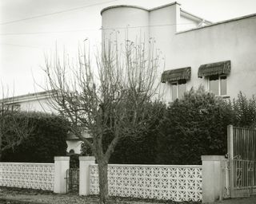
<path fill-rule="evenodd" d="M 82 197 L 77 194 L 54 194 L 51 191 L 27 190 L 10 187 L 0 187 L 0 203 L 26 204 L 98 204 L 97 196 Z M 198 204 L 200 202 L 172 202 L 142 200 L 136 198 L 110 198 L 110 203 L 120 204 Z"/>

